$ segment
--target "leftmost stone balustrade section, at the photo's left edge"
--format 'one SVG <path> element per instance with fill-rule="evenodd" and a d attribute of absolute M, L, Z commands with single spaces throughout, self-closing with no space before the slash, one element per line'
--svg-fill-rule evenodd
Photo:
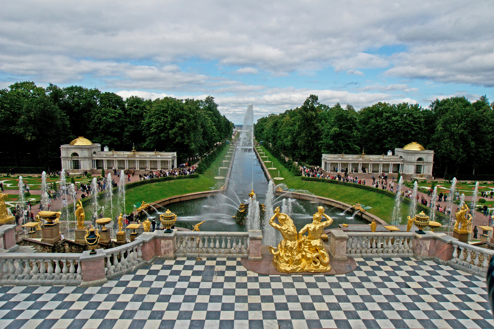
<path fill-rule="evenodd" d="M 2 253 L 0 285 L 79 285 L 81 254 Z"/>

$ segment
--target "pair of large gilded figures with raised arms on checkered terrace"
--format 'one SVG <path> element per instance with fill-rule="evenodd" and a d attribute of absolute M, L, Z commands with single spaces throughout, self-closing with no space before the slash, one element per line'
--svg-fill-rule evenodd
<path fill-rule="evenodd" d="M 287 214 L 280 213 L 280 207 L 275 209 L 269 224 L 281 232 L 283 239 L 277 249 L 269 247 L 273 255 L 273 265 L 279 272 L 328 272 L 329 255 L 321 240 L 325 227 L 331 225 L 333 220 L 324 213 L 323 207 L 317 207 L 318 212 L 312 217 L 312 223 L 303 227 L 297 233 L 293 221 Z M 322 221 L 323 216 L 326 218 Z M 275 219 L 278 218 L 278 223 Z M 307 232 L 307 235 L 303 235 Z"/>

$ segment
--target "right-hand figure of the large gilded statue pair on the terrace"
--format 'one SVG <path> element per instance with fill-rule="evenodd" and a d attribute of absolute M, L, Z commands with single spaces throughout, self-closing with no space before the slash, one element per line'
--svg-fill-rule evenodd
<path fill-rule="evenodd" d="M 317 207 L 317 213 L 312 216 L 312 223 L 307 224 L 298 232 L 299 248 L 305 260 L 306 272 L 327 272 L 331 270 L 329 255 L 324 247 L 321 235 L 325 227 L 331 225 L 333 220 L 324 213 L 324 208 Z M 326 221 L 321 222 L 323 216 Z M 303 235 L 307 232 L 307 235 Z"/>

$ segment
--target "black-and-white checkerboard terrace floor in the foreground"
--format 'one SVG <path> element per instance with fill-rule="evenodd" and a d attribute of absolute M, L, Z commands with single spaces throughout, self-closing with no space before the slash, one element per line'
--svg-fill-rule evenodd
<path fill-rule="evenodd" d="M 483 278 L 413 258 L 338 276 L 263 276 L 240 259 L 156 261 L 103 286 L 1 286 L 0 329 L 494 328 Z"/>

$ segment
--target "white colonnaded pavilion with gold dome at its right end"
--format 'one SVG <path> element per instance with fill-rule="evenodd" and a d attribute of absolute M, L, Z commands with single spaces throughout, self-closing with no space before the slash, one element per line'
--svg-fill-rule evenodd
<path fill-rule="evenodd" d="M 323 154 L 321 167 L 327 172 L 342 173 L 401 173 L 405 179 L 432 178 L 434 151 L 426 150 L 417 142 L 395 148 L 395 154 Z"/>

